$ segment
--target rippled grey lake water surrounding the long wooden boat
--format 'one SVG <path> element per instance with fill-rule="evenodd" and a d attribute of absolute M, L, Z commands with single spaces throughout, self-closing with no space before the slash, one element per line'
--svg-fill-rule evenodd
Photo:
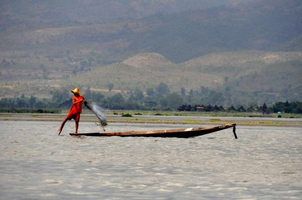
<path fill-rule="evenodd" d="M 74 122 L 0 121 L 0 199 L 302 199 L 302 129 L 189 139 L 71 137 Z M 112 123 L 107 131 L 192 125 Z M 80 122 L 79 132 L 100 132 Z"/>

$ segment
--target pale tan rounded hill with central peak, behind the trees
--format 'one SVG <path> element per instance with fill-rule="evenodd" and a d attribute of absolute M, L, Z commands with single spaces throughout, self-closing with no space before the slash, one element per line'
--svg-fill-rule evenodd
<path fill-rule="evenodd" d="M 162 58 L 164 62 L 159 62 L 158 58 Z M 158 64 L 150 65 L 150 60 L 156 60 Z M 84 85 L 91 85 L 91 87 L 106 87 L 108 82 L 111 82 L 114 83 L 114 88 L 122 90 L 130 90 L 136 87 L 145 90 L 148 87 L 156 87 L 160 82 L 165 82 L 171 89 L 178 91 L 181 85 L 184 87 L 194 87 L 195 83 L 209 85 L 209 82 L 213 83 L 213 80 L 219 79 L 215 75 L 208 74 L 202 78 L 199 75 L 195 71 L 184 71 L 183 67 L 164 59 L 158 54 L 139 54 L 121 63 L 114 63 L 86 73 L 80 73 L 67 82 L 76 84 L 76 82 L 73 82 L 75 79 Z"/>

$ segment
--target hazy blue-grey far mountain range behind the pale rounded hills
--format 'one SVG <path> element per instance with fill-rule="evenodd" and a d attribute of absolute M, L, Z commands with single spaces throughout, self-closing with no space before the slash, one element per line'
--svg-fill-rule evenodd
<path fill-rule="evenodd" d="M 145 7 L 130 0 L 103 1 L 103 4 L 102 1 L 71 2 L 33 1 L 33 4 L 23 2 L 20 5 L 2 2 L 5 12 L 1 13 L 0 57 L 5 57 L 8 51 L 11 56 L 18 57 L 12 52 L 18 50 L 29 57 L 62 58 L 68 51 L 69 57 L 87 59 L 93 56 L 97 64 L 102 65 L 123 61 L 140 52 L 159 53 L 179 63 L 212 52 L 302 50 L 302 2 L 299 0 L 255 0 L 227 6 L 223 4 L 243 1 L 221 1 L 220 4 L 212 1 L 212 6 L 219 7 L 207 9 L 200 9 L 205 1 L 188 1 L 184 8 L 191 8 L 195 2 L 196 7 L 181 13 L 171 13 L 173 6 L 169 7 L 170 13 L 158 12 L 170 1 L 164 4 L 161 4 L 163 1 L 141 1 L 139 5 L 144 2 Z M 183 11 L 181 2 L 184 1 L 172 4 L 175 11 Z M 136 8 L 135 12 L 128 7 Z M 108 11 L 102 12 L 105 8 Z M 117 20 L 123 12 L 139 13 L 138 8 L 153 8 L 154 15 Z M 107 18 L 100 15 L 110 16 L 109 13 L 117 18 L 102 20 Z M 61 24 L 57 25 L 59 22 Z"/>

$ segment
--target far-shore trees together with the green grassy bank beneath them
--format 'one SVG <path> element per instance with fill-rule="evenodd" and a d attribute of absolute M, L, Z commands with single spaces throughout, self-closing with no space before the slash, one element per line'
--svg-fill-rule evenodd
<path fill-rule="evenodd" d="M 267 106 L 250 105 L 247 109 L 244 106 L 211 106 L 211 102 L 216 104 L 223 98 L 218 92 L 203 87 L 201 92 L 189 93 L 182 89 L 180 93 L 170 92 L 168 85 L 160 83 L 156 88 L 148 88 L 146 93 L 136 88 L 127 93 L 91 91 L 90 88 L 84 90 L 86 101 L 95 102 L 101 107 L 109 110 L 130 110 L 130 111 L 154 111 L 154 115 L 188 115 L 200 113 L 201 116 L 211 113 L 212 116 L 238 116 L 238 117 L 261 117 L 276 114 L 277 117 L 285 117 L 284 114 L 302 114 L 301 102 L 278 102 Z M 213 95 L 213 93 L 215 95 Z M 51 98 L 38 98 L 33 95 L 0 99 L 0 112 L 9 113 L 58 113 L 59 110 L 69 109 L 71 107 L 71 93 L 65 90 L 50 90 Z M 208 106 L 198 104 L 200 102 L 209 103 Z M 205 100 L 206 99 L 206 100 Z M 191 106 L 185 105 L 191 103 Z M 159 112 L 161 111 L 161 112 Z M 125 112 L 123 112 L 125 113 Z M 141 112 L 132 112 L 135 115 Z M 143 112 L 142 112 L 143 113 Z M 130 114 L 130 113 L 129 113 Z M 199 115 L 199 114 L 198 114 Z M 291 116 L 289 116 L 291 117 Z"/>

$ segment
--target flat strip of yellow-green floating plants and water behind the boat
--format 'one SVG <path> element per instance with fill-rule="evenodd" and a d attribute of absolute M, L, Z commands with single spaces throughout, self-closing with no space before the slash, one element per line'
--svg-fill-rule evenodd
<path fill-rule="evenodd" d="M 66 114 L 16 114 L 0 113 L 0 121 L 49 121 L 61 122 Z M 126 124 L 183 124 L 183 125 L 224 125 L 237 124 L 238 126 L 283 126 L 302 127 L 301 118 L 269 118 L 269 117 L 212 117 L 212 116 L 154 116 L 133 115 L 121 117 L 120 115 L 107 115 L 108 123 Z M 93 114 L 82 114 L 80 122 L 98 123 Z"/>

